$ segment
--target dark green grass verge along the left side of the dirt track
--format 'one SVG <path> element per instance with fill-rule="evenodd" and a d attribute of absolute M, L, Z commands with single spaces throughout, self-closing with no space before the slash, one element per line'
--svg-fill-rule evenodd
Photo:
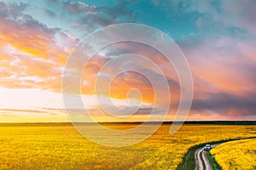
<path fill-rule="evenodd" d="M 177 170 L 194 170 L 195 169 L 195 151 L 205 146 L 206 144 L 222 144 L 224 142 L 230 142 L 240 139 L 256 139 L 256 136 L 248 138 L 236 138 L 236 139 L 223 139 L 218 141 L 207 142 L 192 146 L 189 151 L 183 156 L 183 161 L 177 166 Z M 217 163 L 217 162 L 216 162 Z"/>

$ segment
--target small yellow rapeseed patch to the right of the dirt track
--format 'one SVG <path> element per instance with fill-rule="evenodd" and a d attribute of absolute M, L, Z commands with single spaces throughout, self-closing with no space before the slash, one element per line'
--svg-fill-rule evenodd
<path fill-rule="evenodd" d="M 256 139 L 242 139 L 218 145 L 211 150 L 225 169 L 256 169 Z"/>

